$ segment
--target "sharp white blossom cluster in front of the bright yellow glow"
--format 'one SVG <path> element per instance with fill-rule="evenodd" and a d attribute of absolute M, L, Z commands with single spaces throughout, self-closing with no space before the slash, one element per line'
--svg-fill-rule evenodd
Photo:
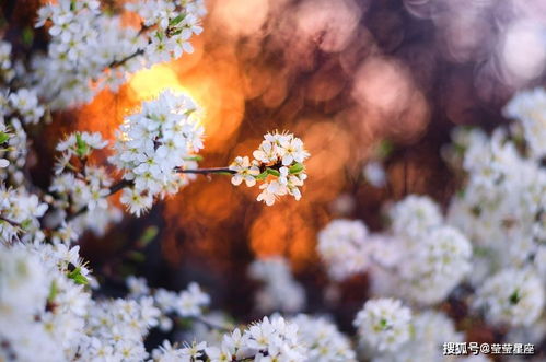
<path fill-rule="evenodd" d="M 166 91 L 121 125 L 109 160 L 132 184 L 121 196 L 131 213 L 141 214 L 154 197 L 175 194 L 187 184 L 181 171 L 196 165 L 195 152 L 202 149 L 196 109 L 189 97 Z"/>

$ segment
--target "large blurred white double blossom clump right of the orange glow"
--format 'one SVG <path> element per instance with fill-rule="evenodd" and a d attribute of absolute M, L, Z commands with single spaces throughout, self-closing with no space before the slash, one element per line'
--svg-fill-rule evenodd
<path fill-rule="evenodd" d="M 471 271 L 471 243 L 444 223 L 428 198 L 410 195 L 394 205 L 391 215 L 392 234 L 369 235 L 361 221 L 344 219 L 318 233 L 317 250 L 330 278 L 340 281 L 372 267 L 375 277 L 390 275 L 391 288 L 382 287 L 388 294 L 422 304 L 440 302 Z"/>

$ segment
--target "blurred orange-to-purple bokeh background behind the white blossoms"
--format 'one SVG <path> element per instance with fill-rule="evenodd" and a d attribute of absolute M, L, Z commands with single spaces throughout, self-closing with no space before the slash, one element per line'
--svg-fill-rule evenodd
<path fill-rule="evenodd" d="M 35 49 L 21 36 L 39 3 L 1 2 L 4 37 L 15 51 L 46 48 L 42 30 L 33 33 Z M 106 293 L 124 293 L 128 272 L 174 290 L 195 280 L 211 293 L 212 307 L 241 320 L 258 315 L 248 264 L 282 255 L 305 287 L 307 311 L 333 313 L 350 328 L 367 278 L 340 285 L 342 308 L 329 303 L 317 231 L 340 217 L 379 230 L 382 206 L 407 194 L 445 206 L 457 187 L 440 155 L 451 129 L 506 122 L 501 108 L 515 91 L 546 83 L 546 1 L 209 0 L 207 8 L 194 54 L 136 73 L 116 94 L 105 91 L 54 114 L 34 141 L 32 175 L 47 186 L 63 133 L 113 138 L 125 115 L 165 89 L 186 92 L 202 108 L 202 167 L 225 166 L 251 155 L 265 132 L 289 130 L 312 155 L 301 201 L 265 207 L 254 200 L 256 188 L 199 176 L 146 217 L 127 215 L 102 237 L 86 235 L 82 254 Z M 126 23 L 138 26 L 136 19 Z M 385 154 L 388 182 L 376 188 L 362 171 Z"/>

